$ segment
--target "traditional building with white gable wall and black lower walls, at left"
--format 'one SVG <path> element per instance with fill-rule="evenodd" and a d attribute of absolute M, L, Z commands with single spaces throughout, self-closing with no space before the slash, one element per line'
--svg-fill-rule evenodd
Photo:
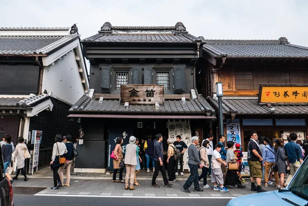
<path fill-rule="evenodd" d="M 30 151 L 40 134 L 35 164 L 49 166 L 54 136 L 78 137 L 68 110 L 88 91 L 78 28 L 0 28 L 0 73 L 0 130 Z"/>

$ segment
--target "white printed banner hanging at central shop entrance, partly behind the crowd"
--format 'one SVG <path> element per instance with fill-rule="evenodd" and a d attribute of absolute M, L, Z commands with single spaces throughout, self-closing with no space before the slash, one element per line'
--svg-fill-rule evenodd
<path fill-rule="evenodd" d="M 169 133 L 169 138 L 171 138 L 172 141 L 174 142 L 177 141 L 177 136 L 180 135 L 182 141 L 185 142 L 187 146 L 191 144 L 191 130 L 190 130 L 189 120 L 184 122 L 176 122 L 176 121 L 171 122 L 169 120 L 168 133 Z M 183 170 L 189 170 L 187 149 L 184 152 L 184 157 L 183 157 Z"/>

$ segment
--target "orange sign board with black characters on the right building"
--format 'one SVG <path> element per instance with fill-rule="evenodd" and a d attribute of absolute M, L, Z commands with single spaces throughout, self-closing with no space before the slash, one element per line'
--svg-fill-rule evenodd
<path fill-rule="evenodd" d="M 264 85 L 259 87 L 259 104 L 308 104 L 308 84 Z"/>

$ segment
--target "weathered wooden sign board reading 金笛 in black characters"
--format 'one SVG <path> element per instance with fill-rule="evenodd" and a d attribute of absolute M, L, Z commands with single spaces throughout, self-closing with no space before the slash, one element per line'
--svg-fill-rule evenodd
<path fill-rule="evenodd" d="M 159 104 L 164 103 L 164 85 L 126 84 L 121 85 L 121 103 Z"/>

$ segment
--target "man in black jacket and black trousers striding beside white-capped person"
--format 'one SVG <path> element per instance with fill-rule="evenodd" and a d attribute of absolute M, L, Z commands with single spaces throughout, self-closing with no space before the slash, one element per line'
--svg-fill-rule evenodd
<path fill-rule="evenodd" d="M 152 178 L 152 188 L 159 188 L 160 186 L 156 184 L 156 178 L 158 176 L 159 171 L 161 171 L 163 180 L 165 183 L 165 188 L 171 188 L 172 184 L 169 183 L 167 175 L 166 175 L 166 169 L 163 166 L 164 165 L 164 155 L 163 155 L 163 150 L 161 147 L 161 142 L 163 141 L 163 136 L 162 134 L 157 134 L 156 135 L 156 142 L 154 142 L 154 162 L 155 162 L 155 171 L 153 174 Z"/>

